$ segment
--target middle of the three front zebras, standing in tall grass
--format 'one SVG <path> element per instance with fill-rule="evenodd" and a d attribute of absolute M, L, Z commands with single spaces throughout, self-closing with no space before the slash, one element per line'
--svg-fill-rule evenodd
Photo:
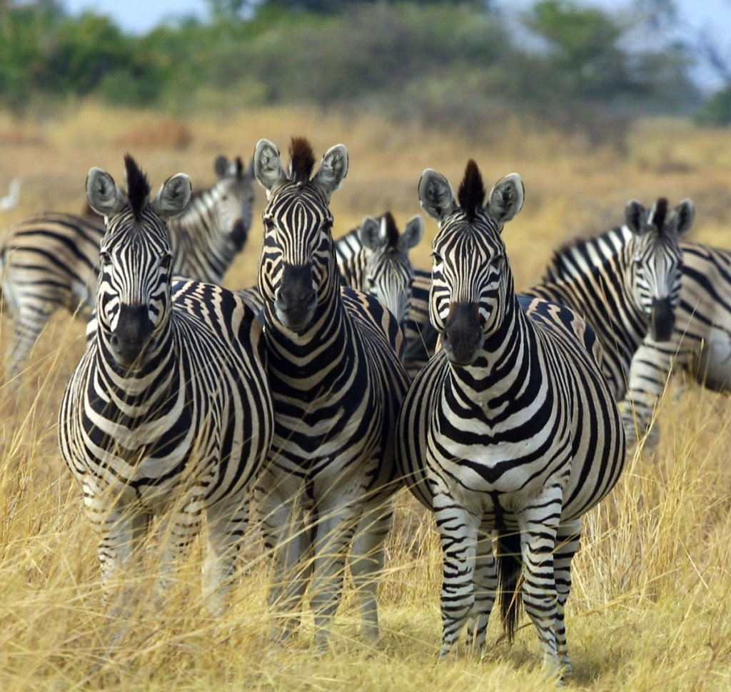
<path fill-rule="evenodd" d="M 289 155 L 285 172 L 270 141 L 260 140 L 254 153 L 267 194 L 258 287 L 275 423 L 255 497 L 274 554 L 273 635 L 295 626 L 292 611 L 308 589 L 315 643 L 324 647 L 349 546 L 363 635 L 379 636 L 375 576 L 390 526 L 393 436 L 408 380 L 396 355 L 395 317 L 372 296 L 341 286 L 329 203 L 346 176 L 347 149 L 328 149 L 314 175 L 307 140 L 293 138 Z"/>

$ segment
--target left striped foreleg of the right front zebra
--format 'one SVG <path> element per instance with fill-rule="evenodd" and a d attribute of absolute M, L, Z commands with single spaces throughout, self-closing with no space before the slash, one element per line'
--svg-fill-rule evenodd
<path fill-rule="evenodd" d="M 459 507 L 446 495 L 434 497 L 433 508 L 444 554 L 439 658 L 446 658 L 472 612 L 477 532 L 481 518 Z"/>

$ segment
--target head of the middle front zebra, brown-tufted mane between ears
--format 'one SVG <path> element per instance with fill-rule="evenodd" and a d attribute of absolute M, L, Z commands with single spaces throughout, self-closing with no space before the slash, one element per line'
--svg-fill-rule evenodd
<path fill-rule="evenodd" d="M 289 156 L 285 173 L 273 143 L 260 140 L 254 150 L 254 175 L 267 193 L 258 285 L 281 325 L 303 331 L 327 293 L 339 290 L 329 204 L 348 172 L 348 151 L 328 149 L 314 176 L 307 140 L 292 138 Z"/>

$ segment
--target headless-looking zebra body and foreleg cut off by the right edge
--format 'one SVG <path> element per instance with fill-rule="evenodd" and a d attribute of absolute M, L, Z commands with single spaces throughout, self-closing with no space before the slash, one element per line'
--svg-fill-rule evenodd
<path fill-rule="evenodd" d="M 673 368 L 702 385 L 731 391 L 731 250 L 682 241 L 675 329 L 667 342 L 646 336 L 629 370 L 627 402 L 640 430 L 651 421 Z"/>

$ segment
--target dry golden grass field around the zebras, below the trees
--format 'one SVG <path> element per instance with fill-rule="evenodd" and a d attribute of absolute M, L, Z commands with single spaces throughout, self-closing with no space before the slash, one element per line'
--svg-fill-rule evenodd
<path fill-rule="evenodd" d="M 0 212 L 8 226 L 40 211 L 83 209 L 91 166 L 123 180 L 129 151 L 154 189 L 178 171 L 194 187 L 213 184 L 217 154 L 249 159 L 259 138 L 284 151 L 292 135 L 311 140 L 317 157 L 342 142 L 350 168 L 333 195 L 336 236 L 365 214 L 390 209 L 400 225 L 417 214 L 424 168 L 457 184 L 474 157 L 491 186 L 517 171 L 523 212 L 504 237 L 518 289 L 537 282 L 550 252 L 578 235 L 621 222 L 627 200 L 675 206 L 694 200 L 692 238 L 731 247 L 731 146 L 728 132 L 678 121 L 637 124 L 629 152 L 588 151 L 580 138 L 485 124 L 474 140 L 404 124 L 290 110 L 243 111 L 173 121 L 155 113 L 82 105 L 67 113 L 14 121 L 0 114 L 0 194 L 22 179 L 20 204 Z M 260 251 L 257 208 L 249 243 L 224 280 L 255 281 Z M 436 230 L 414 252 L 428 268 Z M 3 315 L 2 347 L 10 336 Z M 311 647 L 311 615 L 286 644 L 268 640 L 268 566 L 251 535 L 232 605 L 220 620 L 200 597 L 200 546 L 176 574 L 164 612 L 147 597 L 154 541 L 138 584 L 140 601 L 118 652 L 98 672 L 107 620 L 96 539 L 80 490 L 56 442 L 58 405 L 83 350 L 83 323 L 55 317 L 31 355 L 18 396 L 0 389 L 0 690 L 480 692 L 553 689 L 542 669 L 535 629 L 525 614 L 515 643 L 497 617 L 482 656 L 458 647 L 436 661 L 441 620 L 441 549 L 431 516 L 406 494 L 389 539 L 379 584 L 382 640 L 365 644 L 352 587 L 333 628 L 330 652 Z M 633 451 L 624 476 L 586 516 L 567 610 L 575 672 L 567 689 L 727 691 L 731 689 L 731 403 L 675 377 L 659 409 L 661 440 Z"/>

